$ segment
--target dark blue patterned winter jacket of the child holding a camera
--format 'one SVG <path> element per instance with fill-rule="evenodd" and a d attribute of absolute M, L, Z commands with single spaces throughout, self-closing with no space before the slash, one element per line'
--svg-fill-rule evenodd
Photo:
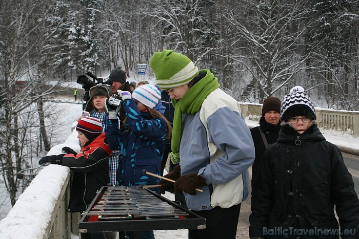
<path fill-rule="evenodd" d="M 127 120 L 123 129 L 118 129 L 118 120 L 106 119 L 105 133 L 110 148 L 122 151 L 116 179 L 124 186 L 158 184 L 158 178 L 143 175 L 143 170 L 160 175 L 167 124 L 162 118 L 140 112 L 132 99 L 124 101 L 124 110 Z M 159 102 L 154 110 L 163 114 L 165 107 Z"/>

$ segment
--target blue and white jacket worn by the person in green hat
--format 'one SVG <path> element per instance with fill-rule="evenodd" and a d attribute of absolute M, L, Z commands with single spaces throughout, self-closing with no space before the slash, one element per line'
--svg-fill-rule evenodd
<path fill-rule="evenodd" d="M 206 179 L 204 192 L 185 194 L 192 210 L 229 208 L 248 196 L 248 168 L 254 162 L 254 144 L 240 104 L 218 88 L 196 114 L 182 114 L 179 147 L 181 175 Z"/>

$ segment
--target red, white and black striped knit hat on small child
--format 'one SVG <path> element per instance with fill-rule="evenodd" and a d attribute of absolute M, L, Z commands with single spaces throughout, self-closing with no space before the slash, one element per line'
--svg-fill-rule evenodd
<path fill-rule="evenodd" d="M 99 119 L 86 116 L 77 122 L 76 131 L 82 132 L 88 140 L 93 140 L 102 134 L 102 124 Z"/>

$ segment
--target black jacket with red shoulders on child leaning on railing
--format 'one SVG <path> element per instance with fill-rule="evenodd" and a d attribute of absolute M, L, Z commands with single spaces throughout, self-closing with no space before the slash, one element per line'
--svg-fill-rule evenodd
<path fill-rule="evenodd" d="M 74 171 L 71 182 L 69 212 L 83 212 L 92 202 L 96 191 L 110 182 L 108 157 L 112 150 L 105 133 L 81 148 L 77 155 L 65 155 L 62 165 Z"/>

